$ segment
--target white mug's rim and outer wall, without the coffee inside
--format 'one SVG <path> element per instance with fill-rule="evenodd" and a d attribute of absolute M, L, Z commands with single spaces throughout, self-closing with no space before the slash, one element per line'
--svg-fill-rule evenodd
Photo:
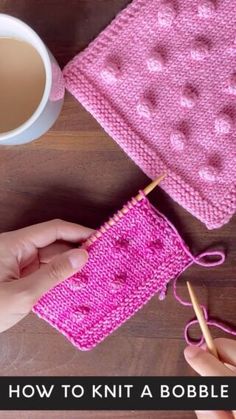
<path fill-rule="evenodd" d="M 26 23 L 0 13 L 0 38 L 15 38 L 31 44 L 40 55 L 45 68 L 45 88 L 35 112 L 16 129 L 0 133 L 0 145 L 24 144 L 39 138 L 56 121 L 64 101 L 63 76 L 55 58 Z"/>

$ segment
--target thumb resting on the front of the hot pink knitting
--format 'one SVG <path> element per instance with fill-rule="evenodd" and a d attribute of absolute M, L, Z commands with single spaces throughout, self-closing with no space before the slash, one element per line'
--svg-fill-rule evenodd
<path fill-rule="evenodd" d="M 32 305 L 51 288 L 80 271 L 88 260 L 84 249 L 73 249 L 54 257 L 40 269 L 18 281 L 16 286 L 30 295 Z M 19 289 L 18 289 L 19 290 Z"/>

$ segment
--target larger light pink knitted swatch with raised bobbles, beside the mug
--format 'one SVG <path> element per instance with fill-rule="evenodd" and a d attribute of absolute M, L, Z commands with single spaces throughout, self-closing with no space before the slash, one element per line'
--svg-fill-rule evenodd
<path fill-rule="evenodd" d="M 68 90 L 208 228 L 236 209 L 234 0 L 134 0 L 64 69 Z"/>

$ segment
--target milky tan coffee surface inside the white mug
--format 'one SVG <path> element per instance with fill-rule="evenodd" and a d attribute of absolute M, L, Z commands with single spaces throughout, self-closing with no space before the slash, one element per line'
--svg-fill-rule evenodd
<path fill-rule="evenodd" d="M 24 41 L 0 38 L 0 133 L 16 129 L 36 111 L 46 74 L 36 49 Z"/>

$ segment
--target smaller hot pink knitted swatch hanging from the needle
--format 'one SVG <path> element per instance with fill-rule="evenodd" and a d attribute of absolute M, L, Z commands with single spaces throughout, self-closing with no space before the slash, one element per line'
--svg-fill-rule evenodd
<path fill-rule="evenodd" d="M 45 294 L 33 309 L 82 350 L 95 347 L 154 294 L 163 299 L 167 284 L 193 262 L 209 266 L 191 255 L 146 198 L 126 208 L 128 213 L 118 212 L 115 225 L 104 224 L 101 237 L 88 246 L 82 272 Z M 219 252 L 212 254 L 221 256 L 213 265 L 224 260 Z"/>

